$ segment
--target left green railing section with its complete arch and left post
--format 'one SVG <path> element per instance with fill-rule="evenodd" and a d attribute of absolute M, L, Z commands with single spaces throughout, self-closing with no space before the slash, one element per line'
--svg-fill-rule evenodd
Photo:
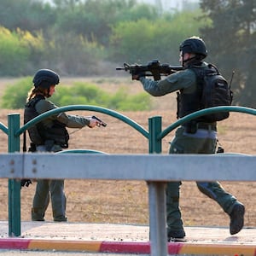
<path fill-rule="evenodd" d="M 0 128 L 9 136 L 9 153 L 20 151 L 20 135 L 26 131 L 32 125 L 37 124 L 42 119 L 47 117 L 68 111 L 74 110 L 87 110 L 93 112 L 105 113 L 113 118 L 122 120 L 127 125 L 130 125 L 135 130 L 139 131 L 144 137 L 149 138 L 149 132 L 143 128 L 142 125 L 138 125 L 137 122 L 126 117 L 125 115 L 108 108 L 101 108 L 90 105 L 73 105 L 61 108 L 55 108 L 48 112 L 38 115 L 36 118 L 30 120 L 20 128 L 20 114 L 9 114 L 8 123 L 9 128 L 2 125 Z M 101 151 L 90 150 L 90 149 L 73 149 L 65 150 L 60 154 L 67 153 L 90 153 L 90 154 L 105 154 Z M 20 182 L 19 180 L 9 179 L 9 236 L 20 236 Z"/>

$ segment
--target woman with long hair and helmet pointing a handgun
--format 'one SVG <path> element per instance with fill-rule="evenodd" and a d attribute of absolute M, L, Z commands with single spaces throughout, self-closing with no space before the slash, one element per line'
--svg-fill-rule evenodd
<path fill-rule="evenodd" d="M 33 88 L 29 91 L 24 111 L 24 123 L 34 119 L 41 113 L 57 108 L 49 102 L 48 98 L 55 93 L 55 85 L 59 84 L 60 77 L 49 69 L 39 69 L 33 78 Z M 92 117 L 59 113 L 43 119 L 38 124 L 28 129 L 31 140 L 30 152 L 58 152 L 62 148 L 68 148 L 69 135 L 66 127 L 82 128 L 88 126 L 106 126 L 102 120 Z M 26 142 L 26 136 L 25 136 Z M 26 147 L 23 148 L 26 151 Z M 61 172 L 61 170 L 56 170 Z M 61 174 L 60 174 L 61 177 Z M 21 186 L 28 186 L 30 180 L 22 180 Z M 54 221 L 67 221 L 66 195 L 64 193 L 64 180 L 38 179 L 36 193 L 32 203 L 32 220 L 44 221 L 44 213 L 49 205 L 49 197 L 52 203 Z"/>

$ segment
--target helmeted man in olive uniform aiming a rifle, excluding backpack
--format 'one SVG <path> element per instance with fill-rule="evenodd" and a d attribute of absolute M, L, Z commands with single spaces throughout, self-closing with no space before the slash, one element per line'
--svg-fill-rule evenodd
<path fill-rule="evenodd" d="M 146 78 L 147 71 L 134 65 L 129 69 L 132 79 L 139 80 L 152 96 L 164 96 L 178 91 L 177 118 L 194 113 L 201 107 L 201 78 L 199 73 L 208 71 L 207 48 L 198 37 L 187 38 L 180 44 L 180 63 L 182 68 L 169 68 L 165 79 Z M 137 66 L 137 67 L 136 67 Z M 212 66 L 211 66 L 212 67 Z M 163 73 L 159 71 L 159 73 Z M 154 73 L 151 73 L 154 74 Z M 154 76 L 155 77 L 155 76 Z M 225 117 L 226 118 L 226 117 Z M 172 139 L 170 154 L 215 154 L 217 146 L 217 121 L 200 117 L 177 128 Z M 207 171 L 207 170 L 206 170 Z M 168 241 L 183 240 L 185 231 L 179 207 L 179 189 L 181 182 L 167 183 L 166 187 L 166 222 Z M 224 190 L 220 183 L 196 182 L 198 189 L 216 201 L 230 216 L 230 234 L 238 233 L 244 224 L 245 208 L 236 197 Z M 216 216 L 216 218 L 218 218 Z"/>

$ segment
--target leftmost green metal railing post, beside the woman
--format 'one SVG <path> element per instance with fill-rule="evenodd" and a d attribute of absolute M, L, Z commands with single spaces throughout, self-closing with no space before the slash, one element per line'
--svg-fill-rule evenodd
<path fill-rule="evenodd" d="M 20 152 L 20 137 L 15 131 L 20 129 L 20 114 L 8 115 L 9 153 Z M 20 181 L 9 179 L 9 236 L 20 236 Z"/>

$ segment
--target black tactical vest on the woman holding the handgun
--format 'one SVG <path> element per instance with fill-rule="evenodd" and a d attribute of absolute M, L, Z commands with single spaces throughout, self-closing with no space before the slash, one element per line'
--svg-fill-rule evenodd
<path fill-rule="evenodd" d="M 35 96 L 30 102 L 26 103 L 24 111 L 24 123 L 34 119 L 39 115 L 35 106 L 44 100 L 44 96 Z M 46 141 L 52 141 L 61 146 L 61 148 L 68 148 L 69 135 L 66 125 L 54 120 L 51 127 L 45 127 L 43 122 L 39 122 L 28 129 L 29 137 L 36 146 L 44 145 Z"/>

